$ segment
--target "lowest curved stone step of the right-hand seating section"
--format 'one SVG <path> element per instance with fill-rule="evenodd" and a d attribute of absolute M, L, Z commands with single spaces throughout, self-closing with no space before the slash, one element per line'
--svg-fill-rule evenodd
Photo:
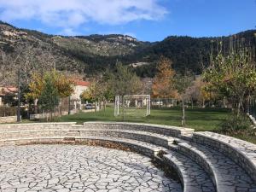
<path fill-rule="evenodd" d="M 207 175 L 201 166 L 198 166 L 193 160 L 190 160 L 183 154 L 169 152 L 163 159 L 172 166 L 178 173 L 183 183 L 184 192 L 210 192 L 215 191 L 212 179 Z"/>

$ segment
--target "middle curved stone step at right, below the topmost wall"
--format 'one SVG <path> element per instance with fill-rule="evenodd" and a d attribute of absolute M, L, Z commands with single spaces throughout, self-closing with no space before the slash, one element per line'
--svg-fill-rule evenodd
<path fill-rule="evenodd" d="M 178 143 L 179 150 L 195 160 L 212 177 L 218 192 L 256 191 L 256 185 L 240 166 L 224 154 L 197 143 Z"/>

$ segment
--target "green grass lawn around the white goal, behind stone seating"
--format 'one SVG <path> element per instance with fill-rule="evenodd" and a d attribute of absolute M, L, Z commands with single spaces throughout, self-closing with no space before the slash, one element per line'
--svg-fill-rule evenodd
<path fill-rule="evenodd" d="M 227 109 L 188 108 L 186 109 L 186 126 L 196 131 L 215 131 L 219 123 L 230 113 Z M 141 122 L 160 125 L 181 125 L 181 108 L 154 108 L 148 117 L 125 117 L 128 122 Z M 78 113 L 62 116 L 60 121 L 123 121 L 122 117 L 113 116 L 113 108 L 96 113 Z"/>

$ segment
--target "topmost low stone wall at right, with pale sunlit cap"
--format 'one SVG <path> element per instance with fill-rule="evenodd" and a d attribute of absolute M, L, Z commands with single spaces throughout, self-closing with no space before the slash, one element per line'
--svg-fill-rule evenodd
<path fill-rule="evenodd" d="M 240 165 L 256 182 L 256 145 L 217 133 L 196 132 L 193 141 L 218 150 Z"/>

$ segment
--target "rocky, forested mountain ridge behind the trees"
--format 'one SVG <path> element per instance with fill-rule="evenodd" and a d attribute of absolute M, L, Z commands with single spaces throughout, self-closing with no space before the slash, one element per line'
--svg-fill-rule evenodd
<path fill-rule="evenodd" d="M 244 44 L 256 45 L 255 30 L 230 36 Z M 64 37 L 20 29 L 0 21 L 0 83 L 15 78 L 15 68 L 26 63 L 26 70 L 56 67 L 87 76 L 113 68 L 116 61 L 134 68 L 141 77 L 153 77 L 160 55 L 173 61 L 177 71 L 201 73 L 209 63 L 210 51 L 230 37 L 191 38 L 171 36 L 160 42 L 143 42 L 130 36 L 90 35 Z M 17 56 L 19 55 L 19 56 Z M 17 59 L 19 57 L 19 59 Z M 2 73 L 1 73 L 2 72 Z M 10 79 L 10 80 L 9 80 Z"/>

